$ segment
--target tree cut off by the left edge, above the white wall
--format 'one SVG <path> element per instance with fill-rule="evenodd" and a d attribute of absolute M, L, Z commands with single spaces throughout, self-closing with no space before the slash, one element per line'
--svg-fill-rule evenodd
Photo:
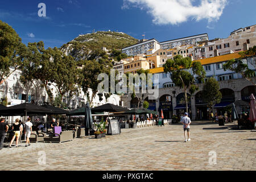
<path fill-rule="evenodd" d="M 22 39 L 9 24 L 0 20 L 0 85 L 20 68 L 24 52 L 26 46 Z"/>

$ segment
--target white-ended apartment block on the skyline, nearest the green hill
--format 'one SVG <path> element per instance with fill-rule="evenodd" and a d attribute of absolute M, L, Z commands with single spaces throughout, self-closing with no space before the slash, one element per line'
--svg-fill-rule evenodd
<path fill-rule="evenodd" d="M 126 53 L 128 56 L 136 56 L 138 54 L 154 53 L 158 49 L 160 49 L 160 43 L 156 39 L 150 39 L 134 44 L 133 46 L 122 48 L 122 53 Z"/>

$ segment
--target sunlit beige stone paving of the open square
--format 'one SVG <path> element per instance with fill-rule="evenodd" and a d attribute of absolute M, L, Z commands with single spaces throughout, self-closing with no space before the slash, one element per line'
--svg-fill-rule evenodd
<path fill-rule="evenodd" d="M 191 141 L 181 124 L 122 129 L 121 135 L 77 138 L 65 143 L 32 143 L 0 151 L 2 170 L 255 170 L 256 132 L 233 123 L 193 122 Z M 209 164 L 209 152 L 216 164 Z M 43 155 L 46 164 L 43 164 Z M 214 160 L 210 160 L 214 162 Z M 39 164 L 40 163 L 40 164 Z"/>

